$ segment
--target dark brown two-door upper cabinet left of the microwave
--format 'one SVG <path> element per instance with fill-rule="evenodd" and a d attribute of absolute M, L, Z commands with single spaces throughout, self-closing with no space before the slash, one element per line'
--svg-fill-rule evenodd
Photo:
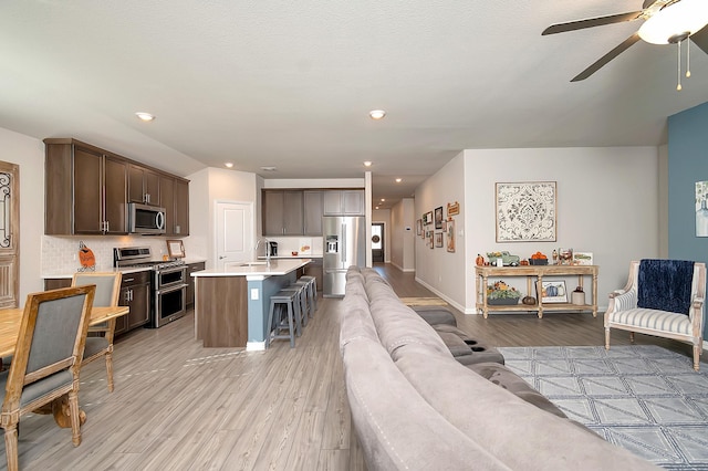
<path fill-rule="evenodd" d="M 74 139 L 44 143 L 44 233 L 127 233 L 127 163 Z"/>

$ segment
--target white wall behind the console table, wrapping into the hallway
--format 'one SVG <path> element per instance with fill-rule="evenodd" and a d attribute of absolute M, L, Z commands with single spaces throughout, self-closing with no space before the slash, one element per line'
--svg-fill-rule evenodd
<path fill-rule="evenodd" d="M 464 260 L 417 239 L 416 276 L 473 313 L 477 253 L 509 250 L 529 258 L 568 247 L 593 252 L 604 308 L 607 293 L 624 286 L 631 260 L 659 255 L 658 156 L 656 147 L 465 150 L 416 191 L 416 218 L 452 198 L 465 201 L 460 216 L 467 222 L 457 243 Z M 555 242 L 496 242 L 494 184 L 513 181 L 556 181 Z M 513 284 L 525 291 L 522 280 Z"/>

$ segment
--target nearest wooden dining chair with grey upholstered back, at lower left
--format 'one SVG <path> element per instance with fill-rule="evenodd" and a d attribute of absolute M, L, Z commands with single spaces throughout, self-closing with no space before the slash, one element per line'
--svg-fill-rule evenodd
<path fill-rule="evenodd" d="M 10 471 L 19 468 L 20 416 L 65 395 L 72 441 L 81 444 L 79 370 L 95 290 L 64 287 L 27 297 L 12 364 L 0 374 L 0 426 Z"/>

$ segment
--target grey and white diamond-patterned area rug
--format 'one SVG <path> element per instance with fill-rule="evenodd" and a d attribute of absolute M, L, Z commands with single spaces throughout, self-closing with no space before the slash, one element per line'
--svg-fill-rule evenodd
<path fill-rule="evenodd" d="M 653 463 L 708 470 L 708 365 L 652 345 L 501 347 L 568 417 Z"/>

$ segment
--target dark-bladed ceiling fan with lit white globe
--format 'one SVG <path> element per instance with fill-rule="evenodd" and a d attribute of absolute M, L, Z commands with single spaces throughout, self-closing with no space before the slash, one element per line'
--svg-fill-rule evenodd
<path fill-rule="evenodd" d="M 604 24 L 644 20 L 637 32 L 577 74 L 571 82 L 587 78 L 641 39 L 654 44 L 679 44 L 690 38 L 708 54 L 708 0 L 644 0 L 642 10 L 551 24 L 542 35 L 583 30 Z M 680 90 L 680 87 L 679 87 Z"/>

